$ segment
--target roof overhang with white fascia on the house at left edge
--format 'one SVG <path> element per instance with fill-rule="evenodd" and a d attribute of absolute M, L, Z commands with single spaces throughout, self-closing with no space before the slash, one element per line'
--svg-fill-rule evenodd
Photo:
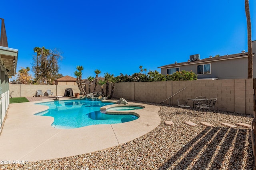
<path fill-rule="evenodd" d="M 0 63 L 9 76 L 15 76 L 18 61 L 18 50 L 0 46 Z"/>

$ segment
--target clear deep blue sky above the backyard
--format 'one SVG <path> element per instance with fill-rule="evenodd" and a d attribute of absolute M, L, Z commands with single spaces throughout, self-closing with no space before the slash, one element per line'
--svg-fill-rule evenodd
<path fill-rule="evenodd" d="M 34 47 L 59 49 L 59 72 L 83 78 L 94 70 L 132 75 L 190 55 L 241 53 L 247 48 L 244 0 L 1 0 L 8 46 L 18 49 L 17 70 L 32 67 Z M 256 2 L 249 1 L 252 40 Z"/>

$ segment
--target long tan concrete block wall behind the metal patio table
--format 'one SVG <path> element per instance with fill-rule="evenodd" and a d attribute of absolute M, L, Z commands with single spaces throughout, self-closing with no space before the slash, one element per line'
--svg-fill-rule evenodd
<path fill-rule="evenodd" d="M 177 104 L 177 98 L 187 100 L 197 96 L 217 98 L 216 110 L 253 114 L 253 79 L 195 80 L 167 82 L 116 83 L 114 98 L 161 103 L 176 94 L 164 104 Z M 189 101 L 192 106 L 192 101 Z"/>

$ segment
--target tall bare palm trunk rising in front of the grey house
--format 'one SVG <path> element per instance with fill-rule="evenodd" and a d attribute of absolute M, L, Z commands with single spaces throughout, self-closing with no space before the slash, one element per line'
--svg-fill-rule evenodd
<path fill-rule="evenodd" d="M 253 78 L 252 76 L 252 28 L 251 28 L 251 18 L 249 10 L 249 0 L 245 0 L 245 14 L 247 20 L 247 41 L 248 41 L 248 78 Z"/>

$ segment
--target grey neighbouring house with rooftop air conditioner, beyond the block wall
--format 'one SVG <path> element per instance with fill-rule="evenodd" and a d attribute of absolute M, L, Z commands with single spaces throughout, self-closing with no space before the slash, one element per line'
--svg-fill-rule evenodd
<path fill-rule="evenodd" d="M 256 53 L 256 41 L 252 41 L 252 58 Z M 176 71 L 186 70 L 195 72 L 198 79 L 236 79 L 247 78 L 248 53 L 224 55 L 200 59 L 200 55 L 191 55 L 187 62 L 160 66 L 161 74 L 173 74 Z M 253 78 L 256 78 L 256 60 L 253 62 Z"/>

